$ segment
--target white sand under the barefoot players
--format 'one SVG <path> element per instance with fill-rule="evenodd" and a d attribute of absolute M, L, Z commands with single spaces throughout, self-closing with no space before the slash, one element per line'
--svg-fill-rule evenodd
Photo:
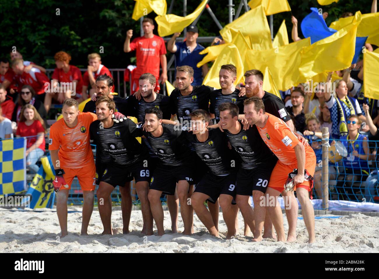
<path fill-rule="evenodd" d="M 69 210 L 81 211 L 78 206 Z M 171 234 L 169 212 L 164 211 L 163 236 L 144 237 L 141 211 L 133 210 L 128 235 L 122 234 L 120 207 L 113 208 L 112 224 L 115 235 L 100 235 L 103 230 L 99 212 L 95 209 L 89 225 L 89 236 L 80 236 L 81 213 L 68 214 L 69 235 L 57 241 L 60 233 L 56 212 L 17 211 L 0 209 L 0 252 L 379 252 L 379 218 L 354 214 L 337 219 L 316 219 L 316 243 L 307 244 L 304 221 L 298 220 L 296 243 L 279 243 L 272 239 L 252 243 L 252 237 L 236 236 L 232 240 L 211 237 L 197 216 L 194 216 L 193 236 Z M 331 216 L 331 215 L 325 215 Z M 239 213 L 240 233 L 243 219 Z M 179 213 L 179 230 L 183 222 Z M 284 228 L 288 223 L 284 215 Z M 226 225 L 219 218 L 219 230 L 226 235 Z M 155 233 L 157 231 L 155 230 Z"/>

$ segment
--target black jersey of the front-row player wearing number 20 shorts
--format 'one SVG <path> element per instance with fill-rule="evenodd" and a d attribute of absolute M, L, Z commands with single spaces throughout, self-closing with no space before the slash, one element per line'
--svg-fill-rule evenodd
<path fill-rule="evenodd" d="M 232 134 L 226 129 L 224 131 L 230 144 L 240 155 L 243 169 L 255 169 L 262 164 L 265 165 L 277 160 L 266 143 L 263 142 L 257 126 L 253 125 L 245 131 L 240 120 L 238 123 L 240 123 L 240 131 L 237 134 Z"/>

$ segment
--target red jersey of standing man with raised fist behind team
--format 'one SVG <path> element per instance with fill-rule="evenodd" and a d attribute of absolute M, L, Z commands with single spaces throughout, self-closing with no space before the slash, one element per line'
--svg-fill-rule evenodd
<path fill-rule="evenodd" d="M 136 50 L 135 76 L 139 78 L 144 73 L 150 73 L 159 79 L 160 55 L 167 53 L 163 38 L 157 35 L 153 38 L 138 37 L 130 43 L 130 49 Z"/>

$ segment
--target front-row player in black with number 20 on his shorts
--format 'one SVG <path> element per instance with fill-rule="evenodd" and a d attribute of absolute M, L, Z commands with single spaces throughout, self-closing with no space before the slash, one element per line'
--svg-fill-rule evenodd
<path fill-rule="evenodd" d="M 218 110 L 220 112 L 219 124 L 241 160 L 236 180 L 236 202 L 245 223 L 254 233 L 254 241 L 261 241 L 263 223 L 265 223 L 265 237 L 269 237 L 272 230 L 269 219 L 264 222 L 266 209 L 260 201 L 266 192 L 277 159 L 260 139 L 255 126 L 247 130 L 243 129 L 241 120 L 238 120 L 239 108 L 236 104 L 222 103 Z M 249 204 L 251 195 L 254 201 L 254 212 Z"/>

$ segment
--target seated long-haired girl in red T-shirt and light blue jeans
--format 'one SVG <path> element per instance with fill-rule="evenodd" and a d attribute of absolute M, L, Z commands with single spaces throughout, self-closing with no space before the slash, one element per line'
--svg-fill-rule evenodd
<path fill-rule="evenodd" d="M 16 137 L 27 137 L 26 166 L 30 173 L 37 173 L 37 161 L 45 154 L 45 126 L 44 121 L 31 104 L 21 110 Z"/>

